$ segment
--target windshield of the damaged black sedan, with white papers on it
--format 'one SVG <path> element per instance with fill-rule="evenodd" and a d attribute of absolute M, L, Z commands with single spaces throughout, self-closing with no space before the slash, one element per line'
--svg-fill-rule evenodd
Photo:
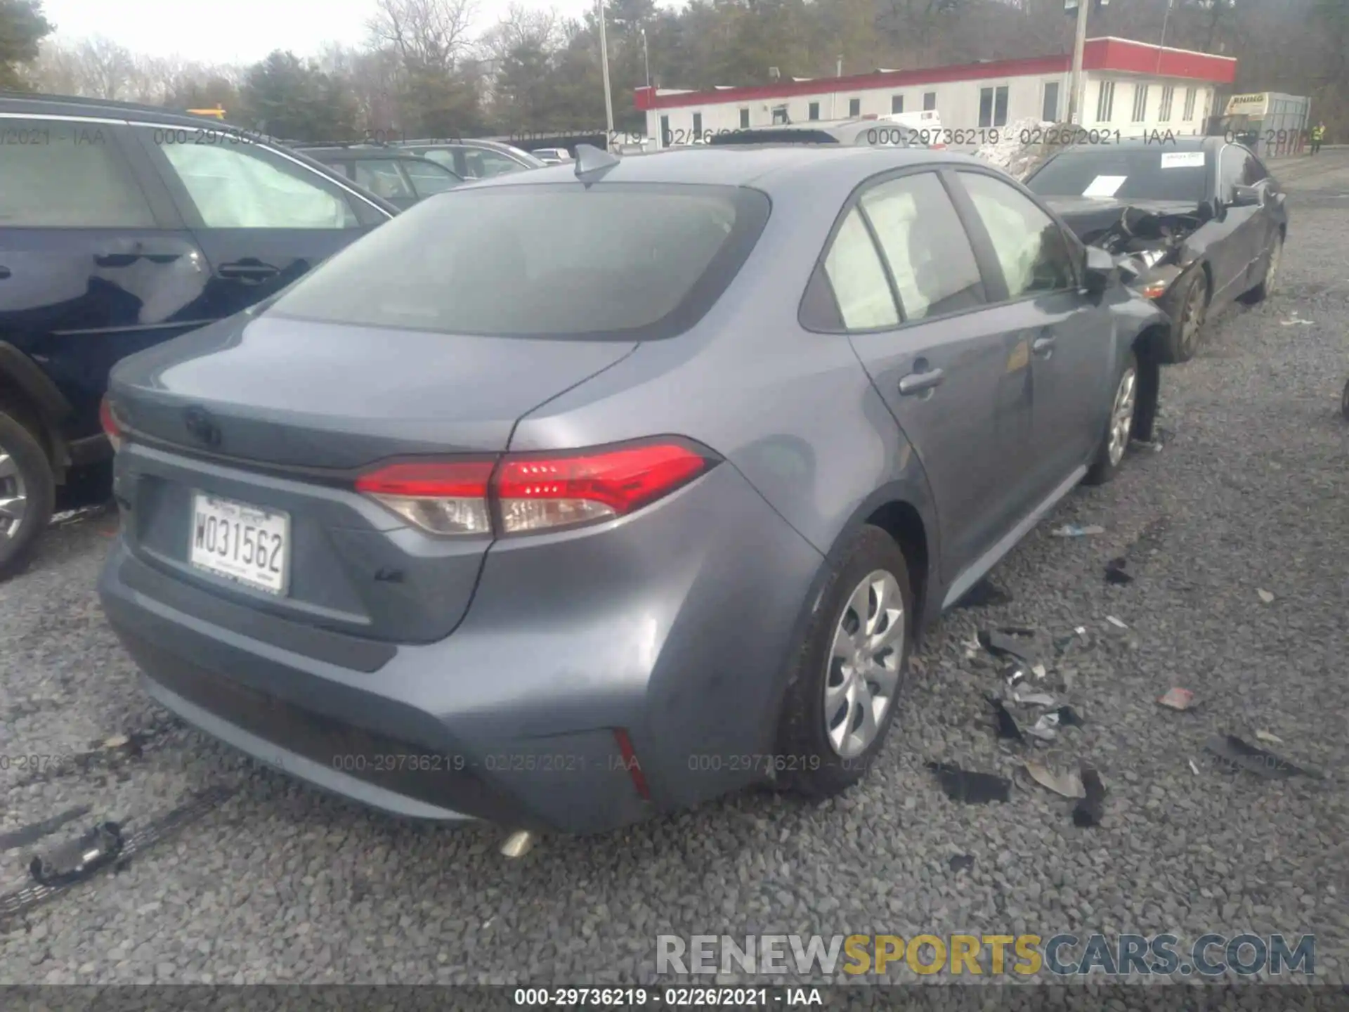
<path fill-rule="evenodd" d="M 1203 151 L 1170 144 L 1064 151 L 1025 181 L 1043 197 L 1120 197 L 1198 204 L 1209 171 Z"/>

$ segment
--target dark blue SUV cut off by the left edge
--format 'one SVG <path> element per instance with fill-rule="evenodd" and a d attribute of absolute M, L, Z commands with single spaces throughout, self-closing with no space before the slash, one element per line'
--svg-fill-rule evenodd
<path fill-rule="evenodd" d="M 398 209 L 267 138 L 0 92 L 0 579 L 108 456 L 113 363 L 279 291 Z"/>

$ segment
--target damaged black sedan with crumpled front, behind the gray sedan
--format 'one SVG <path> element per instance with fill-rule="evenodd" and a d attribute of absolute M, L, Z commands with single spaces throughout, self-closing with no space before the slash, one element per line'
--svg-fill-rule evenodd
<path fill-rule="evenodd" d="M 1288 229 L 1284 194 L 1222 138 L 1075 146 L 1025 181 L 1082 242 L 1129 258 L 1133 287 L 1171 317 L 1166 358 L 1193 358 L 1205 320 L 1272 290 Z"/>

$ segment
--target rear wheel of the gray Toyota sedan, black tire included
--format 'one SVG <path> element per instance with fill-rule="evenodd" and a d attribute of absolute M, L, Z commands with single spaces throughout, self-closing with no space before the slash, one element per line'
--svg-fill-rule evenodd
<path fill-rule="evenodd" d="M 880 528 L 862 528 L 830 575 L 796 654 L 778 722 L 780 788 L 823 799 L 866 776 L 894 722 L 916 623 L 904 552 Z"/>

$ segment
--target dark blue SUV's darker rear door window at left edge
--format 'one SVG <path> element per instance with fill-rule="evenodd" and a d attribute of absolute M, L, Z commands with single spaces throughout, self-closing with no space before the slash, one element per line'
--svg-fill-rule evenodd
<path fill-rule="evenodd" d="M 154 228 L 113 130 L 107 123 L 0 119 L 0 227 Z"/>

